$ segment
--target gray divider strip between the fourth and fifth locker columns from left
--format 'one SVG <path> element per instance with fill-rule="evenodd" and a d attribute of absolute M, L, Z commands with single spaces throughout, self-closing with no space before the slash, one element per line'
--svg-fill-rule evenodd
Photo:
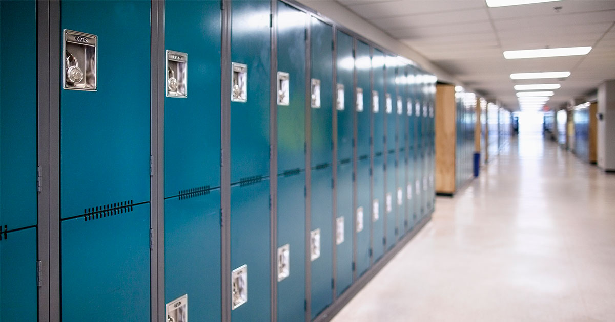
<path fill-rule="evenodd" d="M 271 72 L 269 73 L 269 248 L 271 255 L 269 308 L 277 321 L 277 0 L 271 0 Z"/>

